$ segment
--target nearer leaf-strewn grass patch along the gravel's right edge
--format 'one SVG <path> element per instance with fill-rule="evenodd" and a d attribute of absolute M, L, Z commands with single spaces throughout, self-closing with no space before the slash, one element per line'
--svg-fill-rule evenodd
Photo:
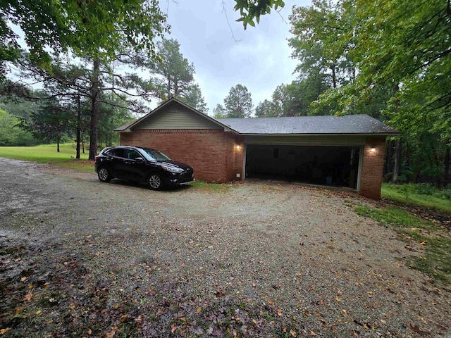
<path fill-rule="evenodd" d="M 410 268 L 436 281 L 451 283 L 451 238 L 443 227 L 400 208 L 357 206 L 355 211 L 395 230 L 402 240 L 411 244 L 407 249 L 420 248 L 421 256 L 407 258 Z"/>

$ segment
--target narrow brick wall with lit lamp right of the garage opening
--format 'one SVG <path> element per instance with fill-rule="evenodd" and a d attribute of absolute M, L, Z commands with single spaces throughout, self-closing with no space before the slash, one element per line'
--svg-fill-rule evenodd
<path fill-rule="evenodd" d="M 375 151 L 371 151 L 374 146 Z M 370 199 L 381 198 L 385 137 L 366 139 L 362 158 L 359 194 Z"/>

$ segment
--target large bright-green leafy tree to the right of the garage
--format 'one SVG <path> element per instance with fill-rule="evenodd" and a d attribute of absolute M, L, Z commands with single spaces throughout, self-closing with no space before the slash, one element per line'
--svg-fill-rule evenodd
<path fill-rule="evenodd" d="M 322 94 L 314 109 L 378 113 L 403 134 L 394 157 L 398 166 L 416 168 L 410 180 L 435 177 L 441 184 L 436 168 L 448 177 L 451 142 L 450 0 L 314 1 L 309 8 L 295 8 L 290 20 L 303 46 L 320 44 L 321 55 L 326 52 L 328 59 L 350 62 L 355 69 Z M 419 146 L 424 142 L 431 147 Z M 428 161 L 433 156 L 442 164 Z M 430 170 L 412 161 L 431 163 Z"/>

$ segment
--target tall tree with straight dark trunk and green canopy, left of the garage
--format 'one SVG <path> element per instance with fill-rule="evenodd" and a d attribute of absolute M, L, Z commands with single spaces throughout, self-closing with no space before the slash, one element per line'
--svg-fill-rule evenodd
<path fill-rule="evenodd" d="M 23 30 L 30 58 L 40 68 L 48 68 L 55 52 L 72 51 L 92 61 L 91 122 L 89 159 L 97 154 L 101 64 L 108 65 L 130 50 L 146 51 L 156 57 L 155 37 L 168 30 L 166 17 L 157 0 L 67 0 L 2 1 L 0 34 L 7 54 L 1 61 L 13 59 L 18 37 L 10 24 Z"/>

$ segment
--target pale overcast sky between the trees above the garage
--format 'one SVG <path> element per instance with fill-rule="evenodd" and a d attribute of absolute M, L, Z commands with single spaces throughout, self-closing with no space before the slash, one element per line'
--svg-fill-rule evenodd
<path fill-rule="evenodd" d="M 171 25 L 168 38 L 177 39 L 183 56 L 194 63 L 194 79 L 210 115 L 236 84 L 249 89 L 255 107 L 271 99 L 278 84 L 295 79 L 297 61 L 290 58 L 288 16 L 293 5 L 309 6 L 310 0 L 285 0 L 280 15 L 273 11 L 261 16 L 259 25 L 247 30 L 235 22 L 239 13 L 233 10 L 233 0 L 160 1 Z"/>

